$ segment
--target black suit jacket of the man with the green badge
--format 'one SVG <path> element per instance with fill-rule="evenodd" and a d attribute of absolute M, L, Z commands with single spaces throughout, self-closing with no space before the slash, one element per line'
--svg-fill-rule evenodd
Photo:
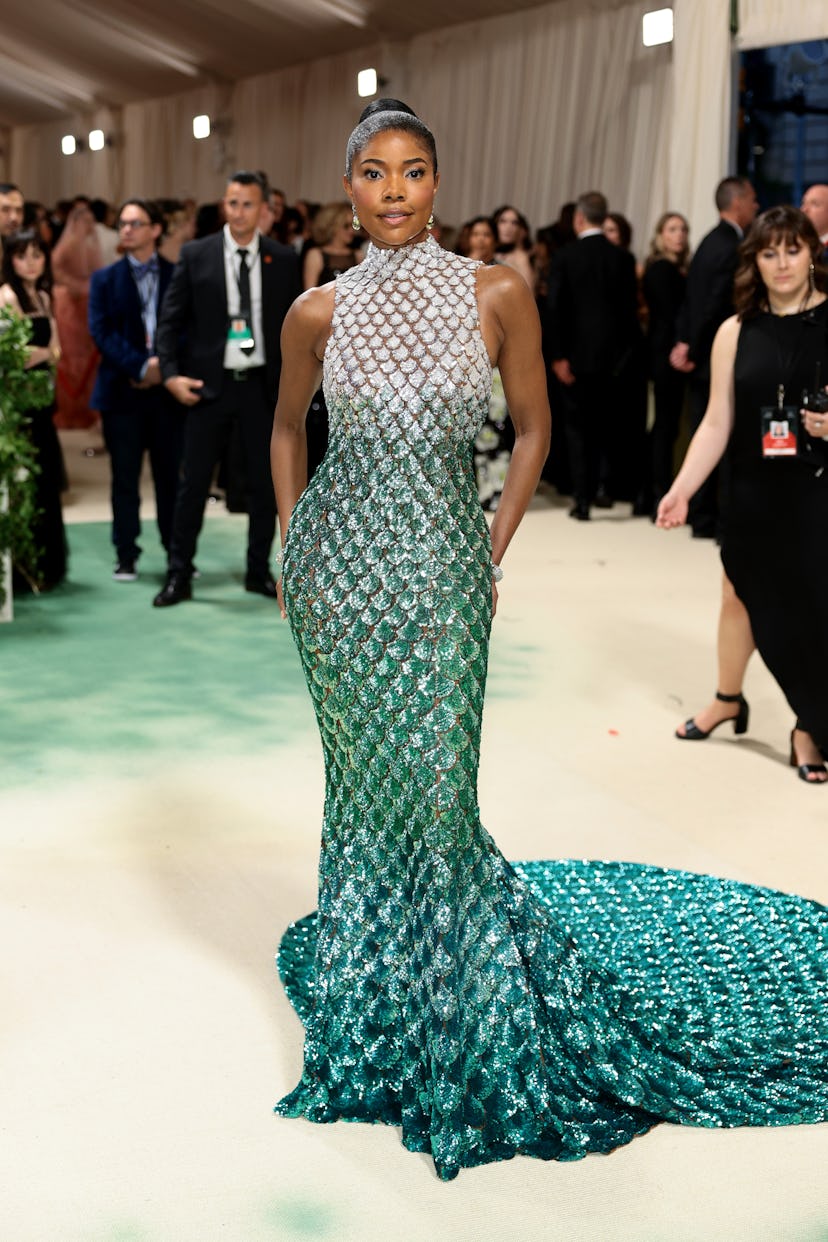
<path fill-rule="evenodd" d="M 279 338 L 290 303 L 302 293 L 299 260 L 289 246 L 259 237 L 262 328 L 267 390 L 276 402 L 282 369 Z M 227 282 L 223 231 L 187 242 L 164 298 L 158 356 L 165 380 L 204 380 L 202 396 L 218 396 L 227 343 Z"/>

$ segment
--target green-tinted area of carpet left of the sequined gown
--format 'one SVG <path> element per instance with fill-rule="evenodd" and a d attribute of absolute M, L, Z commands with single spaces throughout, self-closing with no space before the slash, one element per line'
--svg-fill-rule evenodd
<path fill-rule="evenodd" d="M 68 528 L 68 581 L 0 625 L 0 787 L 262 754 L 315 729 L 287 621 L 245 591 L 246 533 L 243 517 L 206 522 L 194 600 L 154 609 L 154 532 L 139 580 L 114 582 L 109 524 Z"/>

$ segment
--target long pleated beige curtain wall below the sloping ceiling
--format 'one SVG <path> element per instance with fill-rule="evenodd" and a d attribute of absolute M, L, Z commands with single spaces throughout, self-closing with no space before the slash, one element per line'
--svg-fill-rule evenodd
<path fill-rule="evenodd" d="M 726 0 L 677 2 L 689 12 L 718 9 L 726 34 Z M 698 153 L 689 164 L 670 161 L 672 52 L 643 47 L 648 7 L 647 0 L 557 0 L 233 87 L 128 104 L 110 118 L 115 147 L 99 154 L 62 158 L 67 122 L 19 128 L 12 175 L 29 196 L 46 201 L 79 190 L 115 200 L 145 194 L 204 201 L 221 194 L 232 168 L 248 166 L 264 169 L 290 197 L 339 197 L 345 138 L 361 108 L 356 72 L 374 65 L 389 79 L 386 93 L 407 98 L 436 132 L 446 221 L 457 225 L 510 201 L 538 227 L 555 219 L 561 202 L 597 188 L 631 217 L 643 252 L 662 210 L 673 206 L 693 219 L 703 163 Z M 699 94 L 711 91 L 709 67 L 698 50 L 685 73 L 694 89 L 682 109 L 685 129 Z M 199 112 L 218 122 L 204 142 L 191 130 Z M 73 118 L 70 128 L 84 133 L 88 119 Z"/>

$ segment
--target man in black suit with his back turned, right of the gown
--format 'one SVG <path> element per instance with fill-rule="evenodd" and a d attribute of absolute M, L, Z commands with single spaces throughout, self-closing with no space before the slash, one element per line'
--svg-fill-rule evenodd
<path fill-rule="evenodd" d="M 607 200 L 591 191 L 577 200 L 577 241 L 552 260 L 546 332 L 552 370 L 561 385 L 575 504 L 586 522 L 598 488 L 602 456 L 613 457 L 618 426 L 618 379 L 639 335 L 636 261 L 603 236 Z"/>

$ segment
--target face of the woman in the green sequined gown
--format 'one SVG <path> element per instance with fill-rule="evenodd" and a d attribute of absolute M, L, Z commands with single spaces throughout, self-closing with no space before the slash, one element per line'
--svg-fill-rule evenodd
<path fill-rule="evenodd" d="M 345 193 L 377 246 L 405 246 L 426 235 L 439 175 L 415 134 L 386 129 L 354 158 Z"/>

